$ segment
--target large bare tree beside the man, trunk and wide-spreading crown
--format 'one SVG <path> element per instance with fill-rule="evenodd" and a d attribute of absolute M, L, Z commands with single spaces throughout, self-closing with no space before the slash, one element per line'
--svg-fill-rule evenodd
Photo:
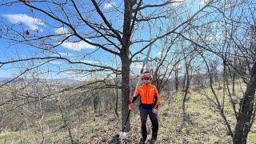
<path fill-rule="evenodd" d="M 76 60 L 63 58 L 62 56 L 46 56 L 33 58 L 14 59 L 9 62 L 0 62 L 0 66 L 4 66 L 15 62 L 25 62 L 31 60 L 54 61 L 62 60 L 70 65 L 92 66 L 94 70 L 113 70 L 120 72 L 122 75 L 122 125 L 125 122 L 128 113 L 128 103 L 130 99 L 130 64 L 133 58 L 138 54 L 142 54 L 149 46 L 162 38 L 166 38 L 170 34 L 179 33 L 183 26 L 189 24 L 202 10 L 214 3 L 213 0 L 202 6 L 201 9 L 194 14 L 189 15 L 187 19 L 180 19 L 175 22 L 174 15 L 179 15 L 175 11 L 174 3 L 182 1 L 159 1 L 151 4 L 150 2 L 142 2 L 142 0 L 129 0 L 119 2 L 113 5 L 112 10 L 104 10 L 102 6 L 106 1 L 90 2 L 81 1 L 10 1 L 1 2 L 0 6 L 21 5 L 29 8 L 31 15 L 41 15 L 42 22 L 48 22 L 47 26 L 51 30 L 61 28 L 61 33 L 52 33 L 51 30 L 40 33 L 40 30 L 17 29 L 3 22 L 2 38 L 6 39 L 10 44 L 22 43 L 32 46 L 37 50 L 41 50 L 46 54 L 58 54 L 56 47 L 65 44 L 65 42 L 86 42 L 90 46 L 103 50 L 104 54 L 117 55 L 122 63 L 121 70 L 116 70 L 112 66 L 104 66 L 100 64 L 92 64 L 83 62 L 84 58 L 90 57 L 92 54 L 84 54 L 83 57 Z M 189 5 L 189 3 L 188 3 Z M 182 5 L 178 6 L 182 10 Z M 112 17 L 110 17 L 112 15 Z M 122 16 L 121 21 L 115 21 L 114 16 Z M 114 22 L 115 21 L 115 22 Z M 174 26 L 169 26 L 169 22 L 174 22 Z M 159 23 L 162 26 L 156 26 Z M 143 32 L 150 31 L 154 27 L 154 33 L 149 34 L 150 37 L 144 37 Z M 166 27 L 163 29 L 163 27 Z M 138 36 L 138 35 L 141 36 Z M 176 34 L 175 34 L 176 35 Z M 13 42 L 13 43 L 11 43 Z M 138 47 L 138 49 L 135 49 Z M 133 49 L 131 49 L 133 48 Z M 95 50 L 97 51 L 97 50 Z M 47 62 L 46 62 L 47 63 Z M 26 69 L 22 74 L 30 69 Z M 90 69 L 85 70 L 88 73 Z M 130 130 L 130 124 L 127 125 Z"/>

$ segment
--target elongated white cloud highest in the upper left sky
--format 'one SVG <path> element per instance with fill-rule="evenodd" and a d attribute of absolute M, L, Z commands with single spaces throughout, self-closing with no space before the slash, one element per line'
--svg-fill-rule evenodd
<path fill-rule="evenodd" d="M 10 22 L 17 24 L 19 22 L 24 23 L 26 26 L 29 27 L 30 30 L 41 30 L 39 29 L 38 25 L 46 26 L 41 19 L 32 18 L 26 14 L 3 14 Z"/>

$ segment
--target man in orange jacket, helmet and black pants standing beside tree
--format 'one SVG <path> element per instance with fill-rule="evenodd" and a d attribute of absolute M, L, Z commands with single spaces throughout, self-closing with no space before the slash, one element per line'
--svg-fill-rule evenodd
<path fill-rule="evenodd" d="M 135 95 L 129 105 L 129 110 L 134 109 L 135 100 L 140 97 L 140 117 L 142 122 L 142 139 L 140 143 L 146 142 L 147 131 L 146 131 L 146 119 L 147 115 L 150 116 L 152 123 L 152 137 L 150 143 L 154 144 L 158 137 L 158 105 L 160 104 L 160 98 L 158 95 L 157 88 L 151 84 L 152 76 L 149 72 L 144 72 L 142 75 L 142 86 L 139 86 L 135 91 Z"/>

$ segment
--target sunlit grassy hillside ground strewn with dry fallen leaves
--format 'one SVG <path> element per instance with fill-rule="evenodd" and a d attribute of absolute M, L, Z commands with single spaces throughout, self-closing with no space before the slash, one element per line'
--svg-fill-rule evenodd
<path fill-rule="evenodd" d="M 186 101 L 186 114 L 182 114 L 182 93 L 172 94 L 162 99 L 158 110 L 158 143 L 232 143 L 226 126 L 217 111 L 199 94 L 192 94 Z M 235 118 L 233 111 L 226 106 L 225 114 L 232 129 Z M 138 109 L 131 111 L 131 130 L 125 141 L 119 142 L 116 136 L 121 129 L 120 114 L 114 110 L 98 114 L 67 113 L 68 126 L 63 125 L 61 114 L 47 114 L 40 125 L 34 124 L 18 131 L 4 131 L 0 143 L 71 143 L 70 133 L 77 143 L 138 143 L 141 138 Z M 39 121 L 38 121 L 39 122 Z M 148 139 L 151 125 L 147 121 Z M 248 136 L 247 143 L 256 143 L 256 126 Z"/>

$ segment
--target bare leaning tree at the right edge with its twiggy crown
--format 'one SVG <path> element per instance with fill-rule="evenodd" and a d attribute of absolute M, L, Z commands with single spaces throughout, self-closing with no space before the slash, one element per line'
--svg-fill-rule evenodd
<path fill-rule="evenodd" d="M 251 21 L 255 17 L 253 2 L 219 2 L 212 6 L 212 13 L 220 14 L 218 18 L 207 18 L 206 22 L 194 21 L 192 24 L 193 32 L 190 37 L 185 34 L 180 34 L 188 42 L 194 44 L 195 50 L 201 54 L 202 59 L 207 67 L 210 78 L 210 87 L 214 99 L 207 97 L 213 103 L 216 110 L 222 116 L 225 122 L 226 129 L 230 134 L 234 143 L 246 143 L 247 135 L 254 123 L 255 115 L 255 22 Z M 239 11 L 239 13 L 237 13 Z M 244 11 L 250 11 L 244 13 Z M 206 12 L 206 13 L 209 13 Z M 238 15 L 234 15 L 237 13 Z M 203 18 L 202 18 L 203 19 Z M 199 24 L 201 23 L 201 24 Z M 218 27 L 219 31 L 213 31 L 211 27 Z M 222 34 L 222 35 L 221 35 Z M 254 38 L 253 38 L 254 37 Z M 214 71 L 211 70 L 209 54 L 213 54 L 218 60 L 223 63 L 223 94 L 222 99 L 218 98 L 218 94 L 214 90 Z M 220 67 L 220 66 L 219 66 Z M 230 74 L 233 73 L 233 76 Z M 234 74 L 235 73 L 235 74 Z M 235 75 L 235 76 L 234 76 Z M 234 92 L 229 92 L 229 78 L 240 78 L 246 85 L 246 92 L 240 95 L 241 101 L 238 102 Z M 234 80 L 233 80 L 234 83 Z M 233 84 L 234 87 L 234 84 Z M 234 130 L 231 123 L 228 122 L 225 114 L 225 95 L 226 91 L 230 105 L 234 110 L 234 118 L 237 123 Z M 234 89 L 233 89 L 234 91 Z M 239 106 L 239 108 L 237 108 Z M 237 111 L 238 110 L 238 111 Z"/>

